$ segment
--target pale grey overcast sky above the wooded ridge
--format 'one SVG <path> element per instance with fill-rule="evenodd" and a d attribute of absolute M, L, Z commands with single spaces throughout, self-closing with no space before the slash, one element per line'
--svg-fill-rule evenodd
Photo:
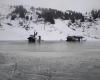
<path fill-rule="evenodd" d="M 75 10 L 86 12 L 91 9 L 100 9 L 100 0 L 0 0 L 0 5 L 23 4 L 35 7 L 47 7 L 60 10 Z"/>

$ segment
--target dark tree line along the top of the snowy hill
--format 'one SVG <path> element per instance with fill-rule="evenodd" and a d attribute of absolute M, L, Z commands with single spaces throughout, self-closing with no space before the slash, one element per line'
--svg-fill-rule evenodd
<path fill-rule="evenodd" d="M 44 22 L 50 22 L 51 24 L 55 24 L 55 19 L 62 19 L 62 20 L 71 20 L 72 23 L 75 20 L 80 20 L 80 22 L 85 22 L 86 16 L 80 12 L 75 12 L 71 10 L 67 10 L 65 12 L 51 9 L 51 8 L 36 8 L 40 12 L 36 12 L 38 18 L 43 18 Z M 26 18 L 27 10 L 22 6 L 15 6 L 15 10 L 11 13 L 11 19 L 14 20 L 16 17 Z M 87 19 L 89 22 L 92 20 L 96 20 L 100 18 L 100 10 L 92 10 L 90 12 L 91 16 Z"/>

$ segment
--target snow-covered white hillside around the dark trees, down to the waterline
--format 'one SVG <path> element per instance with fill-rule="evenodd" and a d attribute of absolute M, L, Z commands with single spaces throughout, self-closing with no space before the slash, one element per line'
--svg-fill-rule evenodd
<path fill-rule="evenodd" d="M 34 7 L 26 8 L 26 19 L 19 18 L 19 15 L 14 18 L 15 13 L 10 14 L 14 9 L 14 7 L 1 8 L 0 40 L 27 40 L 34 32 L 38 32 L 42 40 L 66 40 L 69 35 L 81 35 L 87 40 L 100 38 L 100 19 L 94 23 L 78 21 L 71 23 L 70 20 L 54 19 L 55 24 L 51 24 L 45 23 L 43 18 L 38 18 L 36 13 L 41 13 L 41 11 Z"/>

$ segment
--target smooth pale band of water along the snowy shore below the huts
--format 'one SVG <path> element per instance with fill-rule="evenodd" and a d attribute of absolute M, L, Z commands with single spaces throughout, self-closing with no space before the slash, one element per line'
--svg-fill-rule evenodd
<path fill-rule="evenodd" d="M 99 57 L 100 42 L 42 42 L 34 44 L 27 41 L 2 41 L 0 42 L 0 52 L 34 57 Z"/>

